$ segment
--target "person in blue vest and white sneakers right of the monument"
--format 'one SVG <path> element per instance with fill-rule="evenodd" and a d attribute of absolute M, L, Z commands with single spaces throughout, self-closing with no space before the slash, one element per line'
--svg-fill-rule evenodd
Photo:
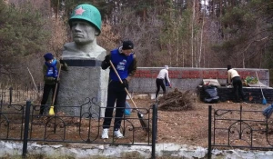
<path fill-rule="evenodd" d="M 123 84 L 120 83 L 115 71 L 110 66 L 109 84 L 107 94 L 107 104 L 105 119 L 103 123 L 102 138 L 108 138 L 108 129 L 113 117 L 114 105 L 116 103 L 116 116 L 114 124 L 114 135 L 117 138 L 123 137 L 119 128 L 121 119 L 124 115 L 124 108 L 126 107 L 126 91 L 128 84 L 136 73 L 136 55 L 133 52 L 134 44 L 131 41 L 124 41 L 123 45 L 111 51 L 106 55 L 105 60 L 102 62 L 101 67 L 106 70 L 110 66 L 110 60 L 116 68 L 116 72 L 120 76 Z"/>

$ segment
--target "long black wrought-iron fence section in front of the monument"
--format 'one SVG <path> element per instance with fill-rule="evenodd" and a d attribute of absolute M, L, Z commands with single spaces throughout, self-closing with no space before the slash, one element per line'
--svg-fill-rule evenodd
<path fill-rule="evenodd" d="M 143 127 L 137 114 L 124 116 L 122 119 L 121 132 L 124 138 L 114 137 L 114 125 L 109 129 L 109 139 L 100 138 L 102 133 L 103 117 L 100 111 L 90 112 L 97 104 L 88 100 L 90 105 L 88 112 L 82 112 L 83 106 L 70 106 L 71 109 L 79 109 L 78 116 L 65 113 L 40 116 L 41 105 L 31 104 L 4 104 L 0 103 L 0 140 L 23 141 L 22 155 L 27 154 L 28 142 L 53 142 L 53 143 L 83 143 L 83 144 L 124 144 L 124 145 L 146 145 L 151 146 L 151 158 L 155 158 L 157 139 L 157 104 L 150 108 L 139 108 L 144 113 L 144 119 L 148 124 Z M 50 105 L 45 105 L 45 108 Z M 58 107 L 59 109 L 60 107 Z M 105 107 L 101 107 L 105 108 Z M 116 108 L 118 109 L 118 108 Z M 113 120 L 114 121 L 114 117 Z M 112 122 L 113 123 L 113 122 Z M 144 131 L 148 129 L 149 131 Z"/>

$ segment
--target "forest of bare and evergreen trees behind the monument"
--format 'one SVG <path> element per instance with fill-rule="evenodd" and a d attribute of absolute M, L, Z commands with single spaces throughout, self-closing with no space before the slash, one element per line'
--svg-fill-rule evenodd
<path fill-rule="evenodd" d="M 273 0 L 0 0 L 0 83 L 32 83 L 27 68 L 42 82 L 43 55 L 62 54 L 83 3 L 101 12 L 97 44 L 132 40 L 139 67 L 273 67 Z"/>

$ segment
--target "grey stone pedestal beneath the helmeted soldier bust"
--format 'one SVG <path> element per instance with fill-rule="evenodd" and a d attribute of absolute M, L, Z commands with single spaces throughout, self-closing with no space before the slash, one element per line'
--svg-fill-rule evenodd
<path fill-rule="evenodd" d="M 67 115 L 104 116 L 106 106 L 108 70 L 102 70 L 101 61 L 93 59 L 64 59 L 67 72 L 60 74 L 58 112 Z M 91 101 L 88 101 L 88 100 Z"/>

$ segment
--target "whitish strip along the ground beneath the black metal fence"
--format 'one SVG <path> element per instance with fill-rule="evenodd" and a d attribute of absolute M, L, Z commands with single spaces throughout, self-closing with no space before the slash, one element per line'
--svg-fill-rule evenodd
<path fill-rule="evenodd" d="M 118 145 L 108 144 L 71 144 L 72 146 L 41 145 L 29 143 L 27 154 L 42 154 L 45 156 L 64 157 L 72 156 L 74 158 L 89 158 L 90 156 L 106 156 L 118 158 L 121 154 L 138 152 L 145 158 L 150 158 L 152 147 L 142 145 Z M 0 156 L 20 155 L 23 152 L 23 143 L 0 141 Z M 187 144 L 156 144 L 157 156 L 177 156 L 188 159 L 204 158 L 207 155 L 207 148 L 200 146 L 190 146 Z M 212 158 L 223 156 L 227 159 L 271 159 L 273 151 L 243 151 L 239 149 L 232 150 L 212 150 Z"/>

